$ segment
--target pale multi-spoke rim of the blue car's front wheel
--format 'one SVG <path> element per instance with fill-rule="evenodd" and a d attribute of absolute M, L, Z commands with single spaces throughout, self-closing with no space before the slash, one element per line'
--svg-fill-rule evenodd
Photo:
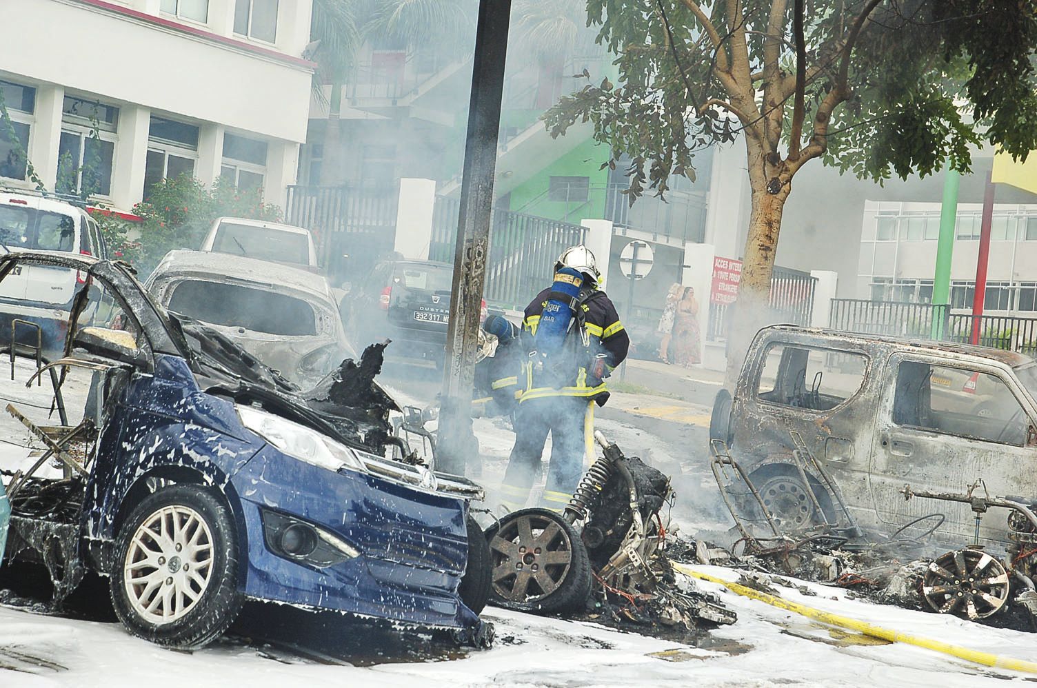
<path fill-rule="evenodd" d="M 163 507 L 145 518 L 122 564 L 133 610 L 156 626 L 178 621 L 194 609 L 212 577 L 213 534 L 190 507 Z"/>

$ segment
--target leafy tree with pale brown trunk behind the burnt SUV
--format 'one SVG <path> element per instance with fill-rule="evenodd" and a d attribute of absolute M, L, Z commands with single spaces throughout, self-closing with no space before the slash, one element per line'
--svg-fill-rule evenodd
<path fill-rule="evenodd" d="M 970 146 L 1037 147 L 1033 0 L 588 0 L 618 84 L 544 115 L 594 124 L 629 202 L 694 179 L 693 156 L 741 135 L 752 211 L 728 380 L 765 312 L 782 210 L 814 159 L 878 181 L 968 172 Z M 596 79 L 595 79 L 596 82 Z"/>

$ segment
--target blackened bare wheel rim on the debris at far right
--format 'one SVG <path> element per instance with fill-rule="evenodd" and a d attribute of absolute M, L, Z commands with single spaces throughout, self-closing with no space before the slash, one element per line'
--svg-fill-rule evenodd
<path fill-rule="evenodd" d="M 929 565 L 922 581 L 926 603 L 940 613 L 985 619 L 1008 601 L 1008 572 L 980 549 L 947 552 Z"/>

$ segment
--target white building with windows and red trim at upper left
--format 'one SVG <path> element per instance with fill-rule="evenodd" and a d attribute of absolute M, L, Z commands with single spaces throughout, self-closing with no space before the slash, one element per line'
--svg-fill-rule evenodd
<path fill-rule="evenodd" d="M 0 87 L 48 190 L 96 169 L 121 210 L 189 172 L 283 206 L 306 140 L 311 0 L 2 0 Z M 91 138 L 93 128 L 100 141 Z M 3 130 L 0 130 L 3 131 Z M 32 188 L 0 136 L 0 185 Z M 63 170 L 62 179 L 71 175 Z M 82 183 L 82 174 L 75 180 Z"/>

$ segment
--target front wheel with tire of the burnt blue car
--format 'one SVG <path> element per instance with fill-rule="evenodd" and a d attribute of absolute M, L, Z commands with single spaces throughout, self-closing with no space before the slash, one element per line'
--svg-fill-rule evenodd
<path fill-rule="evenodd" d="M 131 634 L 151 642 L 201 648 L 241 610 L 237 552 L 220 492 L 179 484 L 151 493 L 116 536 L 110 577 L 116 615 Z"/>

